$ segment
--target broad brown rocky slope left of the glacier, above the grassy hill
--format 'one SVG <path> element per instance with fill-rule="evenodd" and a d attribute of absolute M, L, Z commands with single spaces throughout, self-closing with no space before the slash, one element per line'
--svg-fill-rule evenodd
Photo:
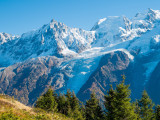
<path fill-rule="evenodd" d="M 49 86 L 58 89 L 64 84 L 64 74 L 56 70 L 58 64 L 61 64 L 60 59 L 48 57 L 7 67 L 0 73 L 0 92 L 15 96 L 25 104 L 33 104 Z"/>

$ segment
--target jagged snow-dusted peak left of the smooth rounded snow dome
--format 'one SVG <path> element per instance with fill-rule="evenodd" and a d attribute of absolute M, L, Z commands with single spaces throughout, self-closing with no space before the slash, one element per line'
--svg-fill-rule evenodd
<path fill-rule="evenodd" d="M 93 40 L 94 32 L 69 28 L 52 20 L 36 31 L 24 33 L 13 42 L 1 45 L 0 53 L 12 63 L 47 55 L 74 56 L 90 48 Z"/>

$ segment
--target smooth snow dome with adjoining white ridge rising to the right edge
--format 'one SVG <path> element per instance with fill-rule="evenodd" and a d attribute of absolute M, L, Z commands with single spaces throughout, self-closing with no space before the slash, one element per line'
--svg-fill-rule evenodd
<path fill-rule="evenodd" d="M 132 20 L 124 16 L 100 19 L 91 29 L 96 32 L 93 47 L 114 46 L 127 40 L 133 40 L 158 26 L 160 12 L 148 9 L 146 14 L 137 14 Z"/>

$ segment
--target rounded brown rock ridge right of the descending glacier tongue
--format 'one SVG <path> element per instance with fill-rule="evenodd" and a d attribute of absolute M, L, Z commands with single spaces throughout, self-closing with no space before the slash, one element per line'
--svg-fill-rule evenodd
<path fill-rule="evenodd" d="M 124 74 L 129 63 L 128 56 L 121 51 L 104 55 L 99 62 L 98 68 L 78 92 L 77 95 L 80 100 L 88 99 L 93 91 L 103 100 L 103 96 L 110 88 L 109 85 L 112 84 L 115 87 L 122 80 L 121 75 Z"/>

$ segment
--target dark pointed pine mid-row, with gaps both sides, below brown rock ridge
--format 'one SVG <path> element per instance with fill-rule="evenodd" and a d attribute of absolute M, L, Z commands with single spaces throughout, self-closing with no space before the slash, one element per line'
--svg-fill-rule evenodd
<path fill-rule="evenodd" d="M 86 102 L 86 120 L 103 120 L 104 115 L 95 93 L 91 93 L 90 99 Z"/>

